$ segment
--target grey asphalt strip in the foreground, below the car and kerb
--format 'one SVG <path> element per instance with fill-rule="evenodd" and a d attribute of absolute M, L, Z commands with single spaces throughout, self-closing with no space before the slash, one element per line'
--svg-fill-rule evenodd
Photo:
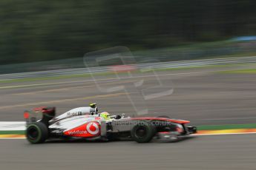
<path fill-rule="evenodd" d="M 0 140 L 1 169 L 255 169 L 256 135 L 192 137 L 179 143 L 44 143 Z"/>

